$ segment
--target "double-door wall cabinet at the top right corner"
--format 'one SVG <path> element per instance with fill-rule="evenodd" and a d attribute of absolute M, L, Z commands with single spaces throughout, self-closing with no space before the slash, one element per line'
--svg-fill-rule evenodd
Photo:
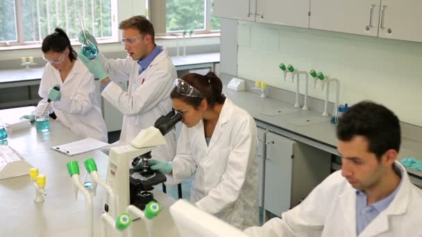
<path fill-rule="evenodd" d="M 422 42 L 420 0 L 311 0 L 310 28 Z"/>

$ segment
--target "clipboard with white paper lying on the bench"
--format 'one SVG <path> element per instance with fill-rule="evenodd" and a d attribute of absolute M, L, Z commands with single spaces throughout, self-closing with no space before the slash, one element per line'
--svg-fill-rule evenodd
<path fill-rule="evenodd" d="M 59 146 L 52 146 L 51 150 L 56 150 L 56 152 L 60 152 L 71 157 L 85 152 L 90 152 L 92 150 L 98 150 L 108 145 L 110 144 L 93 139 L 92 137 L 88 137 L 87 139 L 82 139 Z"/>

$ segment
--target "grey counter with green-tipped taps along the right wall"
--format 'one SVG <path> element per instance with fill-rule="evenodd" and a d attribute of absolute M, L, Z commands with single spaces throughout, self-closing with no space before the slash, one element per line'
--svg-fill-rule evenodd
<path fill-rule="evenodd" d="M 233 77 L 234 76 L 224 73 L 220 74 L 220 78 L 223 81 L 223 93 L 226 94 L 230 100 L 233 100 L 236 105 L 246 109 L 246 111 L 248 111 L 258 123 L 261 122 L 272 125 L 278 128 L 278 131 L 281 130 L 282 135 L 285 137 L 289 137 L 290 139 L 325 150 L 331 154 L 339 155 L 337 152 L 337 137 L 335 134 L 336 125 L 330 123 L 330 121 L 297 125 L 297 121 L 300 121 L 301 119 L 318 119 L 322 112 L 301 110 L 300 112 L 282 114 L 279 116 L 265 115 L 262 112 L 270 111 L 271 109 L 282 110 L 285 108 L 292 108 L 294 101 L 289 103 L 269 96 L 267 96 L 267 98 L 261 98 L 260 91 L 259 94 L 258 91 L 248 91 L 247 85 L 245 91 L 234 91 L 232 89 L 228 89 L 226 85 Z M 251 85 L 251 83 L 254 82 L 246 84 Z M 273 91 L 285 93 L 282 89 L 273 88 Z M 422 159 L 422 128 L 415 125 L 409 125 L 407 123 L 400 123 L 400 125 L 402 127 L 402 143 L 398 159 L 400 160 L 405 157 L 416 157 L 417 159 Z M 422 171 L 407 168 L 407 172 L 410 173 L 412 177 L 417 177 L 420 180 L 418 185 L 422 185 Z"/>

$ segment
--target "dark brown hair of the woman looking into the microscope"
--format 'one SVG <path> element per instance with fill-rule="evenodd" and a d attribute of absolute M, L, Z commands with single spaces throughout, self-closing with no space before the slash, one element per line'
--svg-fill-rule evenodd
<path fill-rule="evenodd" d="M 187 73 L 180 78 L 187 82 L 195 89 L 199 90 L 207 100 L 210 107 L 214 107 L 216 104 L 223 104 L 226 100 L 226 96 L 221 94 L 223 91 L 223 83 L 220 78 L 215 75 L 214 72 L 210 71 L 205 76 L 198 73 Z M 179 94 L 177 89 L 171 90 L 170 98 L 178 98 L 183 100 L 188 105 L 192 105 L 195 109 L 199 107 L 201 101 L 204 98 L 190 97 Z"/>

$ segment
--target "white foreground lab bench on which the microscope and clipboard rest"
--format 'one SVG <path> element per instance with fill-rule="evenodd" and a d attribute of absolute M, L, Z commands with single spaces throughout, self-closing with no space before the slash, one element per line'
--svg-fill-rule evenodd
<path fill-rule="evenodd" d="M 31 111 L 33 107 L 0 110 L 0 117 L 19 117 Z M 8 145 L 19 152 L 40 174 L 47 177 L 44 202 L 34 203 L 35 188 L 29 175 L 0 179 L 1 228 L 0 236 L 42 236 L 74 237 L 88 236 L 88 215 L 85 199 L 81 193 L 74 200 L 71 177 L 67 172 L 67 162 L 76 160 L 81 170 L 81 181 L 86 170 L 83 161 L 94 157 L 99 169 L 99 176 L 105 179 L 108 157 L 99 150 L 74 157 L 67 157 L 51 150 L 51 146 L 77 141 L 80 137 L 73 134 L 61 123 L 50 121 L 48 134 L 36 132 L 35 125 L 8 134 Z M 94 234 L 99 236 L 99 220 L 102 214 L 104 188 L 99 187 L 94 198 Z M 168 207 L 174 202 L 162 191 L 154 190 L 155 198 L 162 204 L 163 211 L 155 219 L 154 236 L 178 236 L 176 226 L 169 214 Z M 146 233 L 140 220 L 134 222 L 135 233 Z M 165 227 L 165 228 L 162 228 Z"/>

